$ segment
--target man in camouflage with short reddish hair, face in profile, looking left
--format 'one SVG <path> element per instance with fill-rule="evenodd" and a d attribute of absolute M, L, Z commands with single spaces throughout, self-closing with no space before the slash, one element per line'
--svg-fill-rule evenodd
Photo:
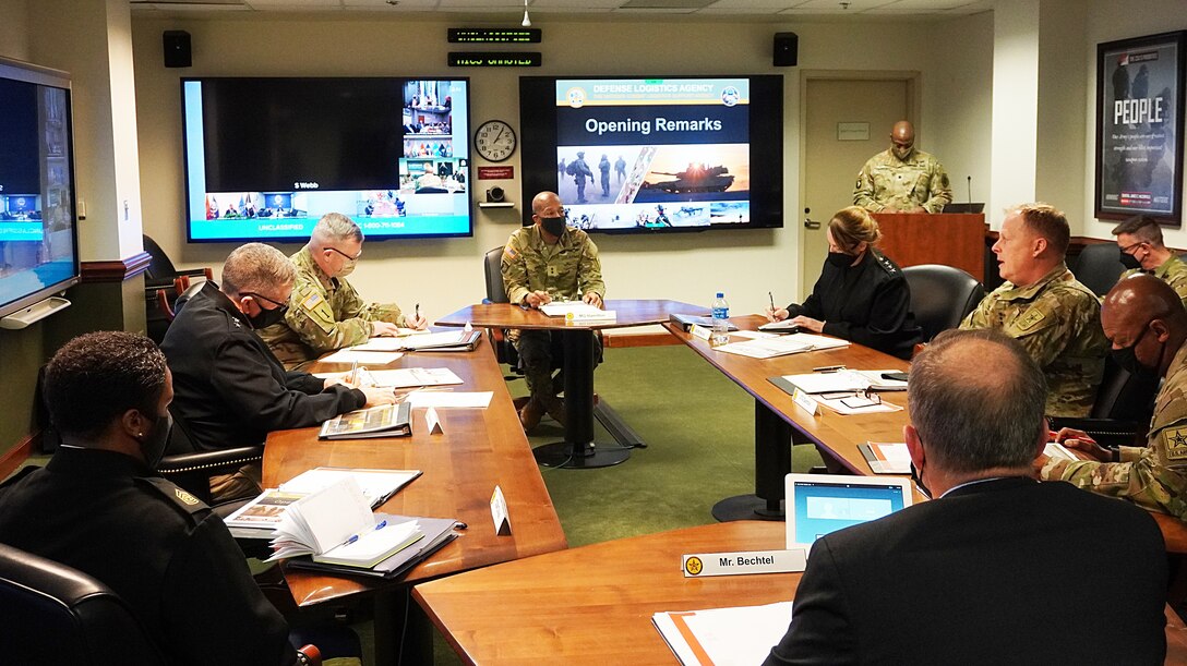
<path fill-rule="evenodd" d="M 1007 282 L 960 328 L 998 328 L 1022 342 L 1047 376 L 1047 414 L 1085 417 L 1097 397 L 1109 341 L 1100 329 L 1099 301 L 1064 263 L 1069 236 L 1067 218 L 1047 204 L 1011 210 L 994 243 Z"/>

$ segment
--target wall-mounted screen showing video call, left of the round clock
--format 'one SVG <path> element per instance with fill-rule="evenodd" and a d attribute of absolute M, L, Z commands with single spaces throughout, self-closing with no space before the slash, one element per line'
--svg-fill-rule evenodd
<path fill-rule="evenodd" d="M 465 78 L 184 78 L 190 242 L 471 236 Z"/>

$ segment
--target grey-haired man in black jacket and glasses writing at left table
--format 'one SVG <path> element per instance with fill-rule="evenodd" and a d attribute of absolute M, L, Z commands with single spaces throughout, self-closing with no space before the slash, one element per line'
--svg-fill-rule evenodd
<path fill-rule="evenodd" d="M 391 404 L 391 389 L 350 388 L 345 377 L 286 372 L 256 334 L 288 309 L 297 269 L 280 250 L 248 243 L 170 325 L 160 348 L 173 371 L 173 414 L 197 450 L 264 443 L 272 430 L 307 428 L 339 414 Z M 349 374 L 349 373 L 344 373 Z M 182 453 L 182 452 L 171 452 Z M 258 466 L 211 480 L 215 500 L 260 492 Z"/>

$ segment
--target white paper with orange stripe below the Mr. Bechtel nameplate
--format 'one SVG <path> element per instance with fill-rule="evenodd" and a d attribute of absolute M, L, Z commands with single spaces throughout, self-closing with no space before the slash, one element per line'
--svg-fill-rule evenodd
<path fill-rule="evenodd" d="M 716 666 L 754 666 L 770 654 L 792 623 L 792 602 L 709 610 L 656 613 L 655 628 L 685 666 L 702 664 L 684 634 L 683 622 Z M 707 665 L 706 665 L 707 666 Z"/>

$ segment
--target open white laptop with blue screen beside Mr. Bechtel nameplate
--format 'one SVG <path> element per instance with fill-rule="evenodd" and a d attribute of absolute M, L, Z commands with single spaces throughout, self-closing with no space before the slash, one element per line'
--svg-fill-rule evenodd
<path fill-rule="evenodd" d="M 788 474 L 787 549 L 811 550 L 820 537 L 910 506 L 910 479 Z"/>

